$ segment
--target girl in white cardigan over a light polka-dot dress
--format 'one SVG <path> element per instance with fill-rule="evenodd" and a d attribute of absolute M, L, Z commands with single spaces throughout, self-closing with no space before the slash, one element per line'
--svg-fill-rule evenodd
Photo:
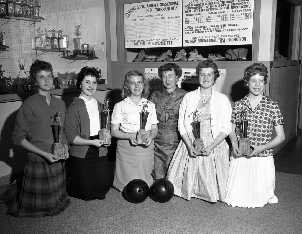
<path fill-rule="evenodd" d="M 196 75 L 200 87 L 185 94 L 180 104 L 178 130 L 182 140 L 169 165 L 167 178 L 174 185 L 175 195 L 215 203 L 224 201 L 226 196 L 230 154 L 225 138 L 232 131 L 232 107 L 229 99 L 213 87 L 219 71 L 212 60 L 201 61 Z M 192 112 L 195 110 L 201 121 L 200 135 L 205 147 L 202 154 L 193 145 Z"/>

